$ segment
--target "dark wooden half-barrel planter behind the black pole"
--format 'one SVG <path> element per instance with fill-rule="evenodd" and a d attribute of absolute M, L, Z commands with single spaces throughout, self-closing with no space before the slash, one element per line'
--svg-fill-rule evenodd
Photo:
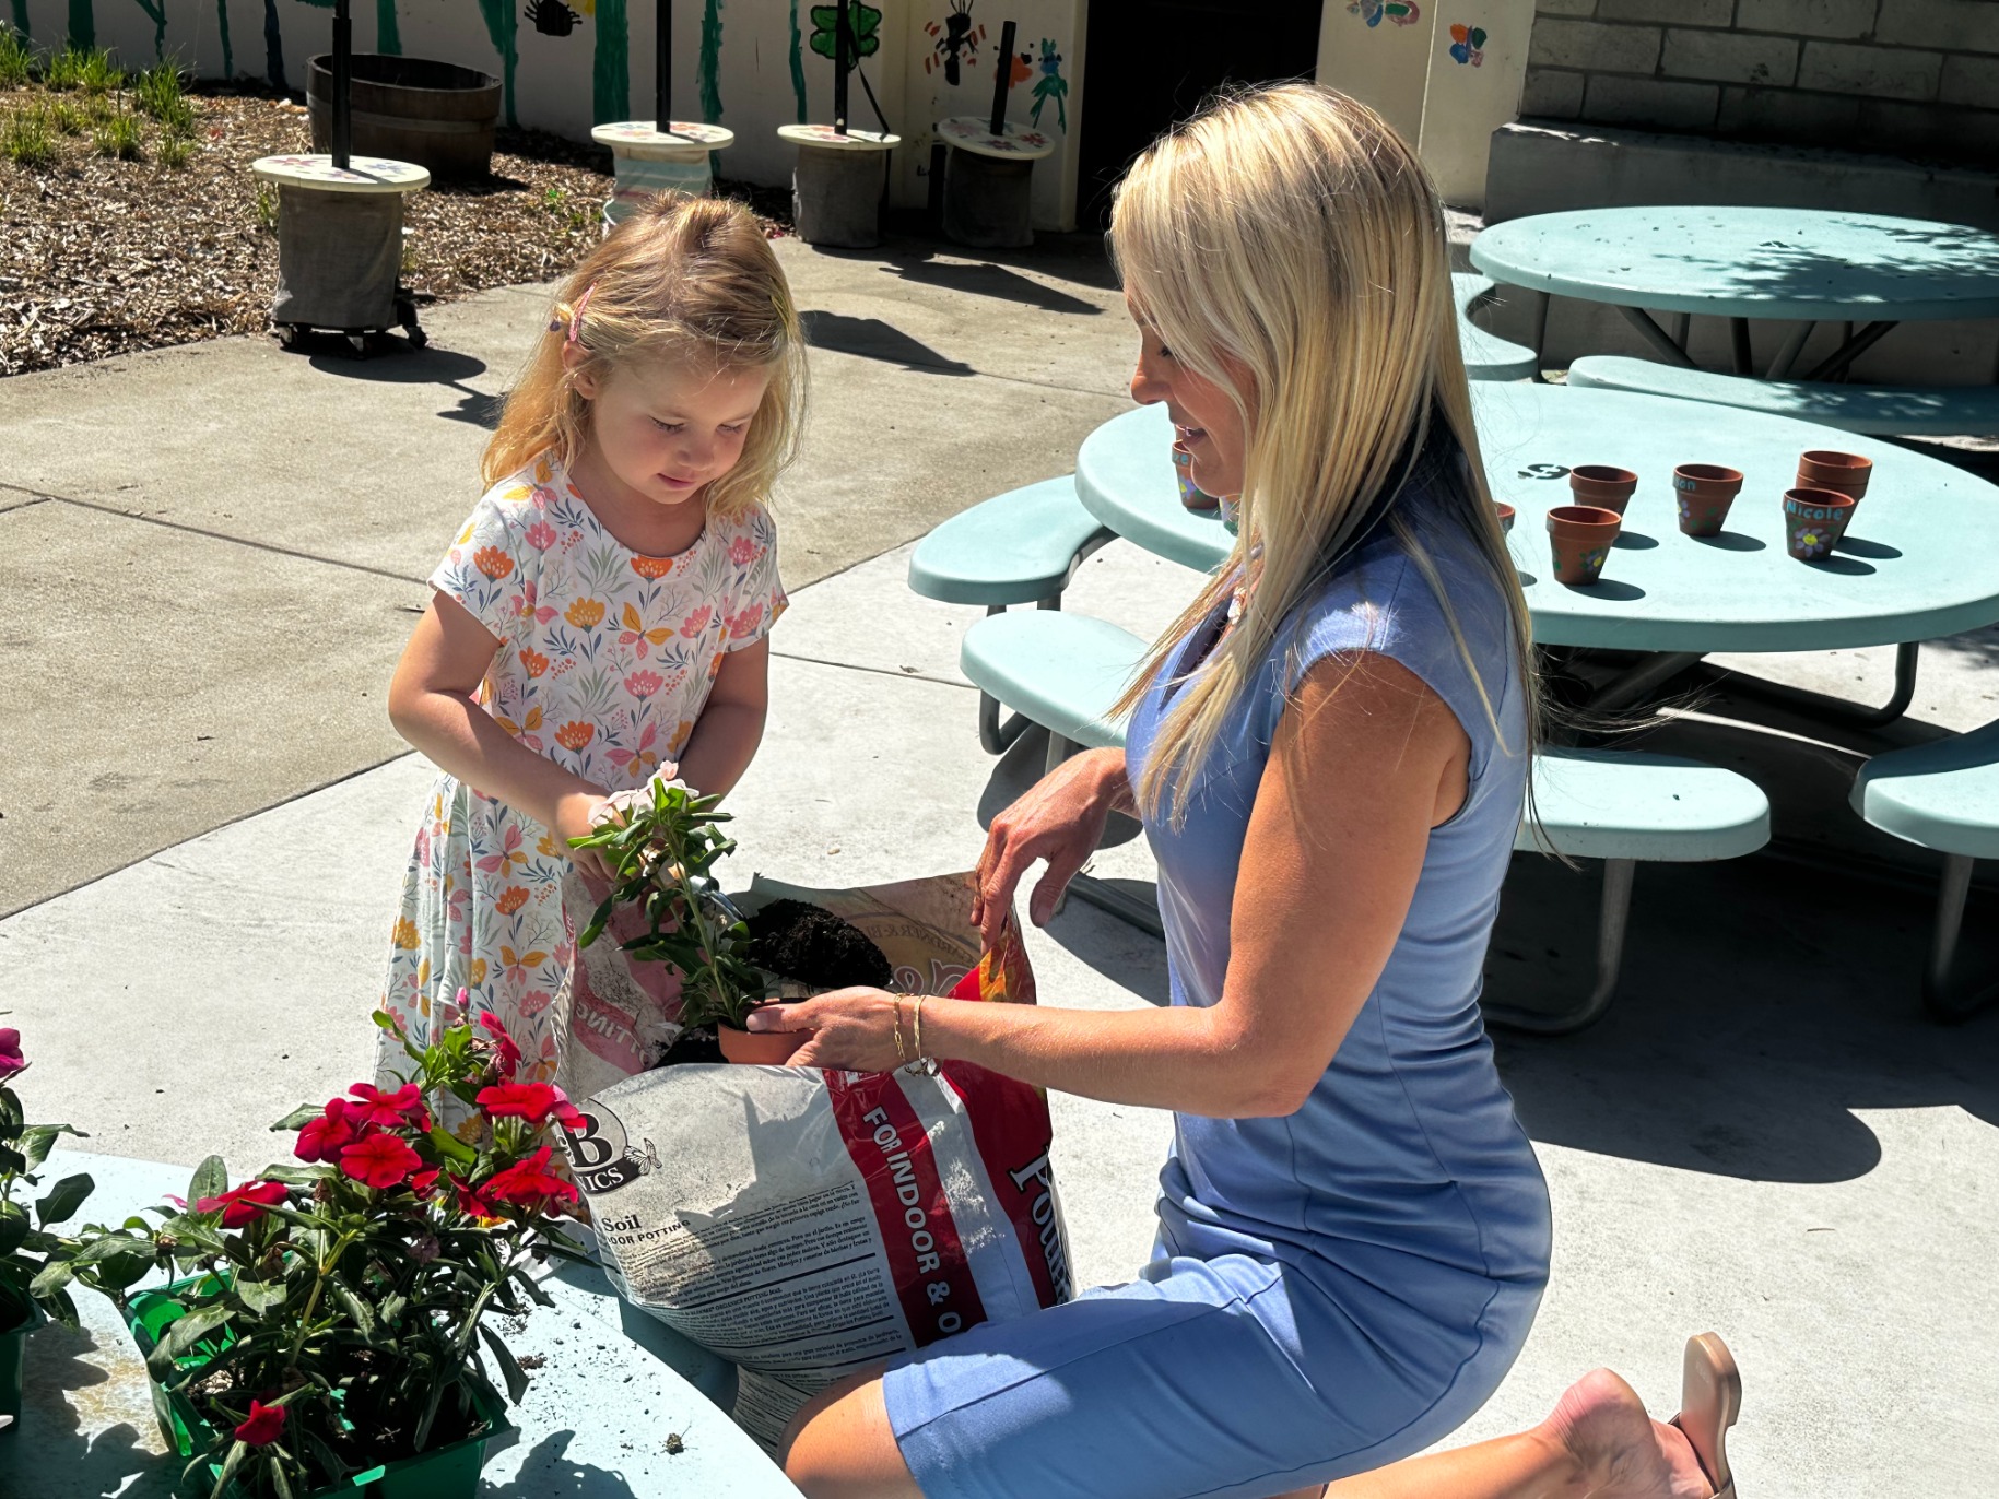
<path fill-rule="evenodd" d="M 456 62 L 354 54 L 356 156 L 416 162 L 440 178 L 482 178 L 492 166 L 494 126 L 500 124 L 500 80 Z M 330 150 L 334 122 L 334 60 L 312 60 L 306 82 L 312 150 Z"/>

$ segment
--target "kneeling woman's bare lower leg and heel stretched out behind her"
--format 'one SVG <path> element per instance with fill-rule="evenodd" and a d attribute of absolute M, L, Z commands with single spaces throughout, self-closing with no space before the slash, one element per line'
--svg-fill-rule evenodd
<path fill-rule="evenodd" d="M 1679 1427 L 1653 1421 L 1631 1385 L 1595 1369 L 1531 1431 L 1283 1499 L 1707 1499 L 1713 1491 Z"/>

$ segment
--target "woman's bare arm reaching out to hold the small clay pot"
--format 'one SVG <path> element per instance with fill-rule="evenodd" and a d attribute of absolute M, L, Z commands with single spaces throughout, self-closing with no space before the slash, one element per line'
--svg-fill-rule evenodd
<path fill-rule="evenodd" d="M 1215 1117 L 1295 1111 L 1373 991 L 1409 913 L 1429 829 L 1463 805 L 1451 710 L 1375 654 L 1317 664 L 1257 787 L 1213 1007 L 924 1005 L 924 1051 L 1111 1103 Z M 1017 875 L 1015 875 L 1017 877 Z M 1011 889 L 986 891 L 992 905 Z M 794 1065 L 896 1065 L 896 999 L 844 989 L 754 1017 L 818 1031 Z M 914 1001 L 902 999 L 906 1043 Z"/>

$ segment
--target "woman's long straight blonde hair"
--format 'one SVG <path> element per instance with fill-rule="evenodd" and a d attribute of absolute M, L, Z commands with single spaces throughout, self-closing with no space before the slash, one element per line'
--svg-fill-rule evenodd
<path fill-rule="evenodd" d="M 1213 618 L 1261 544 L 1241 620 L 1161 718 L 1139 805 L 1185 815 L 1193 771 L 1257 664 L 1329 560 L 1391 502 L 1431 438 L 1431 414 L 1465 452 L 1469 482 L 1437 484 L 1435 498 L 1507 602 L 1531 738 L 1539 696 L 1527 602 L 1471 426 L 1443 206 L 1415 152 L 1373 110 L 1315 84 L 1223 98 L 1131 166 L 1111 210 L 1111 254 L 1173 360 L 1231 392 L 1247 434 L 1229 566 L 1151 646 L 1119 712 Z M 1443 604 L 1505 744 L 1433 560 L 1399 508 L 1389 504 L 1385 524 Z"/>

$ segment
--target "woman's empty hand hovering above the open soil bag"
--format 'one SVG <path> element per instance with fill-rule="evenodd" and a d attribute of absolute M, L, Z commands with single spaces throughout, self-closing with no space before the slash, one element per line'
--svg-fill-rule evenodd
<path fill-rule="evenodd" d="M 1069 887 L 1103 839 L 1103 821 L 1125 797 L 1123 750 L 1089 750 L 1071 755 L 1029 787 L 1027 795 L 994 817 L 980 853 L 978 897 L 972 919 L 992 947 L 1013 909 L 1013 889 L 1035 859 L 1047 873 L 1033 887 L 1027 919 L 1047 925 L 1055 901 Z"/>

